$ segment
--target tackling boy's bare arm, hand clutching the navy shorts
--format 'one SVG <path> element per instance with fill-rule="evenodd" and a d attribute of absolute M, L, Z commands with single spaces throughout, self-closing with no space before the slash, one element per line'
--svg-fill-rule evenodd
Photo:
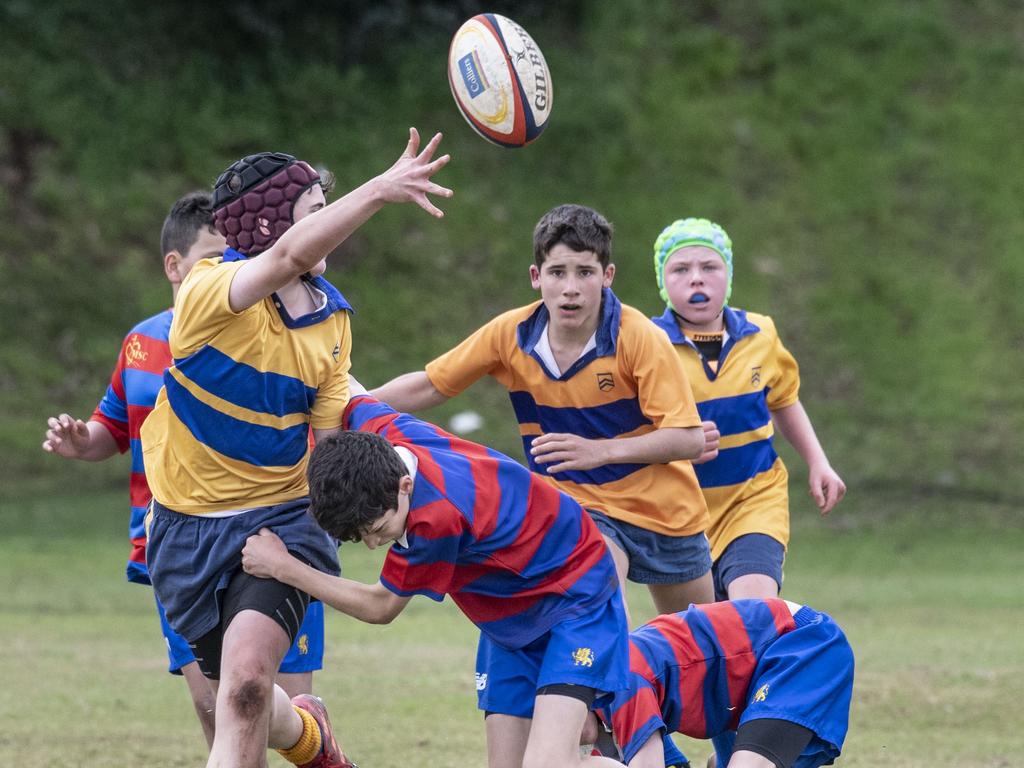
<path fill-rule="evenodd" d="M 246 541 L 242 567 L 252 575 L 289 584 L 368 624 L 390 624 L 412 599 L 394 594 L 380 582 L 362 584 L 316 570 L 293 557 L 267 528 Z"/>

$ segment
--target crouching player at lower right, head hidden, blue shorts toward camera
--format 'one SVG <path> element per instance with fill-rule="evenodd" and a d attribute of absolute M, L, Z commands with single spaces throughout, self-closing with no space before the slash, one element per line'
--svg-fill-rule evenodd
<path fill-rule="evenodd" d="M 630 633 L 630 687 L 598 714 L 630 768 L 676 765 L 667 733 L 717 737 L 719 768 L 816 768 L 839 757 L 852 693 L 853 651 L 828 615 L 733 600 Z M 596 740 L 593 716 L 587 730 Z"/>

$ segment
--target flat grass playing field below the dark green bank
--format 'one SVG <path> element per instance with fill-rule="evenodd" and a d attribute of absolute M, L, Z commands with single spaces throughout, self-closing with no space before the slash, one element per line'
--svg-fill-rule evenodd
<path fill-rule="evenodd" d="M 120 490 L 0 502 L 0 765 L 204 763 L 184 684 L 165 672 L 151 592 L 123 581 L 123 504 Z M 1017 510 L 853 497 L 821 523 L 797 506 L 785 596 L 838 618 L 857 656 L 840 764 L 1020 765 Z M 346 546 L 342 558 L 348 575 L 376 577 L 379 553 Z M 632 603 L 650 615 L 644 592 Z M 384 628 L 328 616 L 316 691 L 364 768 L 485 764 L 474 633 L 450 601 L 414 600 Z M 705 743 L 683 748 L 702 765 Z"/>

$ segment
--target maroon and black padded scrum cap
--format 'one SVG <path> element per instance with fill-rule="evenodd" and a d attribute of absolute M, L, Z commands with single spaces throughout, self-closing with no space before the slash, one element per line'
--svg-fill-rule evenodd
<path fill-rule="evenodd" d="M 213 223 L 227 245 L 246 256 L 262 253 L 295 223 L 295 202 L 319 174 L 280 152 L 242 158 L 213 187 Z"/>

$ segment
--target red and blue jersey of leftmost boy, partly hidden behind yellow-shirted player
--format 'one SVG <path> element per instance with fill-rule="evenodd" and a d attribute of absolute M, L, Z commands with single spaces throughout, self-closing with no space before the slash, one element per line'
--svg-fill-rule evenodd
<path fill-rule="evenodd" d="M 150 572 L 145 567 L 143 521 L 146 507 L 153 498 L 145 480 L 145 468 L 142 466 L 139 430 L 157 401 L 164 371 L 171 365 L 167 336 L 172 316 L 171 310 L 167 309 L 142 321 L 128 332 L 121 344 L 121 353 L 111 375 L 106 393 L 91 417 L 92 421 L 106 427 L 122 454 L 131 450 L 131 516 L 128 521 L 128 538 L 132 548 L 126 572 L 128 581 L 137 584 L 150 584 Z"/>

